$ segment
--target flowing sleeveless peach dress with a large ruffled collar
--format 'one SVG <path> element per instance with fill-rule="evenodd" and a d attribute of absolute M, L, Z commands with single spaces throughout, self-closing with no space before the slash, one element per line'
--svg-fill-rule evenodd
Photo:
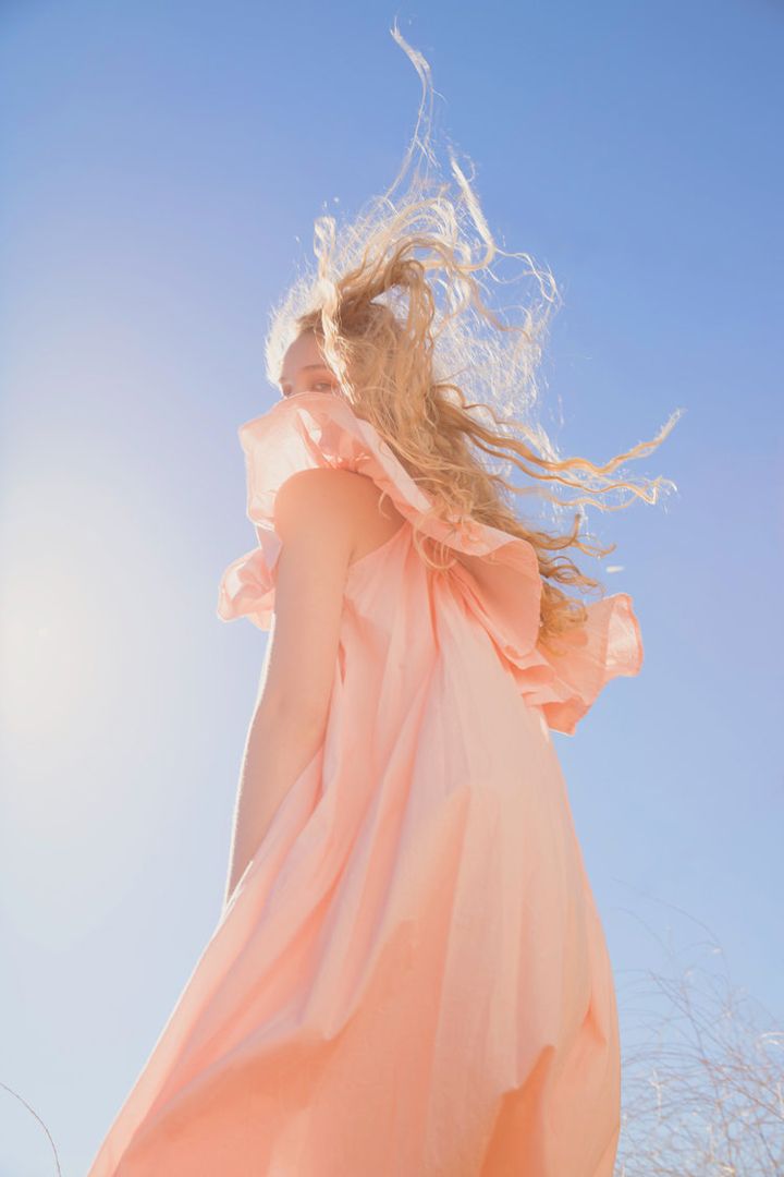
<path fill-rule="evenodd" d="M 404 523 L 348 570 L 323 742 L 88 1177 L 610 1177 L 615 989 L 550 732 L 638 672 L 631 598 L 547 653 L 531 545 L 424 520 L 340 393 L 239 435 L 257 546 L 223 573 L 223 620 L 269 629 L 295 471 L 359 471 Z M 473 571 L 428 568 L 417 519 Z"/>

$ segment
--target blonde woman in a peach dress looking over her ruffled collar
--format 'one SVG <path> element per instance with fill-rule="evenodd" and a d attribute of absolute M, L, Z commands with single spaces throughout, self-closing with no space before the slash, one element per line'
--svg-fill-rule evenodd
<path fill-rule="evenodd" d="M 240 428 L 257 545 L 219 599 L 269 631 L 225 904 L 89 1177 L 611 1177 L 615 990 L 551 731 L 642 641 L 628 594 L 558 587 L 598 585 L 558 554 L 590 552 L 579 517 L 510 496 L 655 501 L 612 476 L 674 421 L 599 467 L 501 420 L 548 312 L 485 306 L 500 251 L 451 167 L 457 200 L 417 173 L 340 239 L 320 218 L 274 318 L 281 395 Z"/>

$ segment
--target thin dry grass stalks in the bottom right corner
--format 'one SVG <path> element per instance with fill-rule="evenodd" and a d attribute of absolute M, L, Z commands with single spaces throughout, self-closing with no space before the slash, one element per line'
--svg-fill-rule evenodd
<path fill-rule="evenodd" d="M 616 1175 L 782 1177 L 784 1030 L 732 988 L 715 939 L 695 956 L 705 963 L 645 971 L 638 1009 L 619 995 L 622 1017 L 635 1015 L 637 1029 L 622 1029 Z"/>

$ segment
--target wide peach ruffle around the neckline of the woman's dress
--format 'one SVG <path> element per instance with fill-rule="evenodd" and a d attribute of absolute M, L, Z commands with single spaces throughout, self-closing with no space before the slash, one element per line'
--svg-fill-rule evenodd
<path fill-rule="evenodd" d="M 542 578 L 534 546 L 522 537 L 469 520 L 460 528 L 428 517 L 430 498 L 414 481 L 370 421 L 336 393 L 303 392 L 276 401 L 237 430 L 247 471 L 247 516 L 257 546 L 223 572 L 217 614 L 247 617 L 268 630 L 275 607 L 281 539 L 274 526 L 275 496 L 300 470 L 351 470 L 371 478 L 420 532 L 465 556 L 485 557 L 492 576 L 478 580 L 461 564 L 445 572 L 469 612 L 489 633 L 514 674 L 521 696 L 542 709 L 549 727 L 574 734 L 577 722 L 617 676 L 643 663 L 639 625 L 628 593 L 585 605 L 588 619 L 558 641 L 554 653 L 538 641 Z"/>

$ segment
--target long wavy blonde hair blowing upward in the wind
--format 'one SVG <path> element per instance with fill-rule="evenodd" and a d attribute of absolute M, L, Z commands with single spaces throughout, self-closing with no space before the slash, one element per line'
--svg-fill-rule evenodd
<path fill-rule="evenodd" d="M 430 69 L 396 22 L 390 33 L 422 82 L 411 142 L 391 187 L 351 222 L 339 230 L 334 217 L 316 218 L 317 270 L 299 277 L 272 312 L 267 375 L 277 385 L 290 343 L 304 331 L 314 332 L 342 394 L 430 496 L 433 513 L 457 532 L 467 520 L 477 520 L 534 546 L 543 578 L 540 640 L 557 649 L 557 634 L 587 617 L 583 603 L 558 585 L 604 591 L 558 553 L 576 547 L 604 557 L 616 546 L 595 548 L 585 543 L 579 533 L 583 506 L 618 510 L 635 498 L 656 503 L 662 491 L 676 488 L 661 477 L 615 476 L 628 459 L 656 448 L 683 410 L 676 410 L 651 441 L 602 465 L 558 457 L 544 428 L 532 420 L 536 370 L 550 315 L 559 304 L 555 279 L 529 254 L 508 253 L 496 244 L 471 178 L 451 146 L 453 180 L 438 178 L 431 146 Z M 409 172 L 407 189 L 394 198 Z M 514 308 L 522 312 L 522 321 L 509 321 L 489 305 L 487 284 L 510 281 L 497 273 L 496 259 L 504 258 L 522 261 L 523 277 L 538 285 L 538 300 Z M 504 473 L 512 465 L 534 484 L 510 483 Z M 583 493 L 564 501 L 551 493 L 549 487 L 556 485 Z M 609 505 L 604 497 L 611 492 L 628 497 Z M 556 504 L 557 512 L 581 507 L 565 534 L 520 518 L 511 497 L 531 493 Z M 450 566 L 450 560 L 443 563 L 445 545 L 416 527 L 414 541 L 429 566 Z"/>

